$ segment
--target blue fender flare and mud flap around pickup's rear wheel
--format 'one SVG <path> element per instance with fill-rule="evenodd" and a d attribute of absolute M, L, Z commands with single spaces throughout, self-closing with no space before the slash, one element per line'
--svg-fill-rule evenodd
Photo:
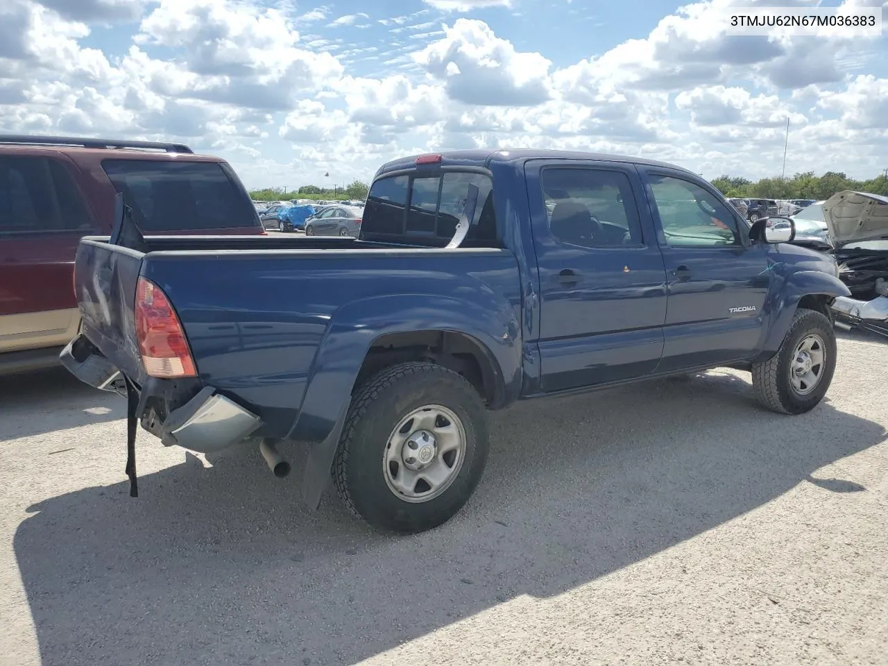
<path fill-rule="evenodd" d="M 470 296 L 467 294 L 466 296 Z M 518 397 L 522 353 L 516 309 L 479 286 L 470 297 L 392 294 L 353 301 L 330 318 L 315 354 L 305 395 L 289 440 L 309 442 L 303 498 L 311 508 L 329 483 L 339 436 L 364 359 L 374 342 L 390 333 L 445 330 L 472 337 L 495 371 L 503 401 Z"/>

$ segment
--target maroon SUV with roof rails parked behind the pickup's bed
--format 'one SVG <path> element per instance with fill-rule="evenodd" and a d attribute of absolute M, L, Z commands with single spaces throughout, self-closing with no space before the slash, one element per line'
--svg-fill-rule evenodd
<path fill-rule="evenodd" d="M 146 235 L 265 234 L 226 161 L 181 144 L 0 135 L 0 374 L 52 367 L 80 326 L 81 236 L 116 195 Z"/>

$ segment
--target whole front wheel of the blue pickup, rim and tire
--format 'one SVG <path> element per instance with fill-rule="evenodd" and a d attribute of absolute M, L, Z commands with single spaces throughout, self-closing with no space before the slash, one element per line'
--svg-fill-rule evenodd
<path fill-rule="evenodd" d="M 756 398 L 780 414 L 815 408 L 836 371 L 836 331 L 823 313 L 799 308 L 780 350 L 752 364 Z"/>

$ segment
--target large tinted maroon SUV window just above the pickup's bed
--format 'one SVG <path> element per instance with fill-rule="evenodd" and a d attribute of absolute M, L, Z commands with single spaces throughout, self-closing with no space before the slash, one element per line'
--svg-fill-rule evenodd
<path fill-rule="evenodd" d="M 143 232 L 258 225 L 256 208 L 222 164 L 104 160 Z"/>

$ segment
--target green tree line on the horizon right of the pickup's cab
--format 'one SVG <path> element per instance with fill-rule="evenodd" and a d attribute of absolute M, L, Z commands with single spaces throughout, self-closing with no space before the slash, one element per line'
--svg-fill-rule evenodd
<path fill-rule="evenodd" d="M 822 176 L 813 171 L 797 173 L 792 178 L 762 178 L 752 182 L 747 178 L 719 176 L 710 180 L 718 191 L 738 199 L 814 199 L 822 201 L 842 190 L 855 190 L 888 196 L 888 178 L 880 174 L 869 180 L 854 180 L 841 171 L 827 171 Z"/>

